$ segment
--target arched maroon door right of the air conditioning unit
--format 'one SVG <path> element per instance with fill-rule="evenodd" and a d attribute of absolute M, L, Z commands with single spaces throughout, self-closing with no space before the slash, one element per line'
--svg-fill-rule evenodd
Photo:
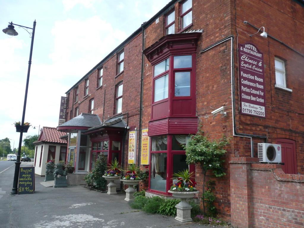
<path fill-rule="evenodd" d="M 276 144 L 281 144 L 282 148 L 282 170 L 286 174 L 297 174 L 297 158 L 295 153 L 295 141 L 291 139 L 276 139 Z"/>

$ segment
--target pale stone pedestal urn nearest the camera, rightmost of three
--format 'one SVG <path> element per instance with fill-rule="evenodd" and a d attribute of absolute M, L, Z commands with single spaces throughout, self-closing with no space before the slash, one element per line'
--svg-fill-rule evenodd
<path fill-rule="evenodd" d="M 175 219 L 185 223 L 192 221 L 191 218 L 191 205 L 188 204 L 187 199 L 191 199 L 195 197 L 195 194 L 199 193 L 199 191 L 196 192 L 175 192 L 175 191 L 168 191 L 169 193 L 172 193 L 172 196 L 174 198 L 180 199 L 181 202 L 179 202 L 175 208 L 176 208 L 176 217 Z"/>

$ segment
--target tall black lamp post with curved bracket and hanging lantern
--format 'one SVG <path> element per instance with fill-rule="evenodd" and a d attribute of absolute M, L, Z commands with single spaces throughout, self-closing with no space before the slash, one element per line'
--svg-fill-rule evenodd
<path fill-rule="evenodd" d="M 19 147 L 18 147 L 18 153 L 17 153 L 17 161 L 15 162 L 15 174 L 14 174 L 14 181 L 13 181 L 13 188 L 12 188 L 12 194 L 18 193 L 18 176 L 19 176 L 19 168 L 20 168 L 20 154 L 21 154 L 21 143 L 22 143 L 22 134 L 23 134 L 23 127 L 24 127 L 24 117 L 25 117 L 25 109 L 26 109 L 26 99 L 27 99 L 27 91 L 29 88 L 29 72 L 31 70 L 31 64 L 32 64 L 32 53 L 33 53 L 33 44 L 34 44 L 34 35 L 35 35 L 35 27 L 36 27 L 36 20 L 33 23 L 33 28 L 29 28 L 22 25 L 13 24 L 13 22 L 10 22 L 6 29 L 3 29 L 2 31 L 6 33 L 8 36 L 17 36 L 18 33 L 14 29 L 14 25 L 19 26 L 20 28 L 23 28 L 27 31 L 27 29 L 32 29 L 33 32 L 30 33 L 30 36 L 32 38 L 31 41 L 31 49 L 29 51 L 29 67 L 27 69 L 27 78 L 26 78 L 26 87 L 25 87 L 25 95 L 24 95 L 24 104 L 23 104 L 23 112 L 22 112 L 22 121 L 21 121 L 21 131 L 20 131 L 20 137 L 19 137 Z"/>

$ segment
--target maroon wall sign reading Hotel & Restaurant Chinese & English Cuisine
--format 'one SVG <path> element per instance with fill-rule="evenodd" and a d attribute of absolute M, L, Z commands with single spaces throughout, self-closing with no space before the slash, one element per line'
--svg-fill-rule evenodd
<path fill-rule="evenodd" d="M 241 114 L 266 118 L 263 53 L 251 43 L 239 44 Z"/>

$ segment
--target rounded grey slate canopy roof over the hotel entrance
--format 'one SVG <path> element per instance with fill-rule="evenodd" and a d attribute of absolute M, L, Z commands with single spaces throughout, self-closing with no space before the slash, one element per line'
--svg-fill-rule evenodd
<path fill-rule="evenodd" d="M 77 126 L 77 127 L 94 127 L 100 125 L 101 121 L 96 114 L 81 113 L 79 116 L 70 119 L 69 121 L 59 125 L 63 126 Z"/>

